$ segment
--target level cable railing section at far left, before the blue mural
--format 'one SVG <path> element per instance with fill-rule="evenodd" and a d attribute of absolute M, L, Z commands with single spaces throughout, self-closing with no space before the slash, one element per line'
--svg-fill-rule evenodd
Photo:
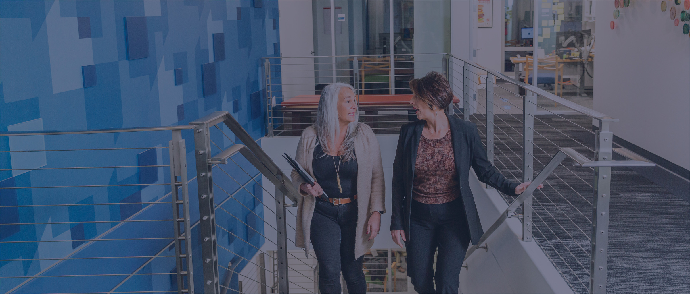
<path fill-rule="evenodd" d="M 45 142 L 45 136 L 52 136 L 50 142 L 63 147 L 46 149 L 39 146 L 45 143 L 39 143 L 24 145 L 38 149 L 1 151 L 42 159 L 38 167 L 24 167 L 19 160 L 28 157 L 12 157 L 12 164 L 21 168 L 2 169 L 12 173 L 10 180 L 14 182 L 0 187 L 3 193 L 0 209 L 17 221 L 3 218 L 0 223 L 3 233 L 10 232 L 9 237 L 0 241 L 3 246 L 0 261 L 30 265 L 26 267 L 29 271 L 4 271 L 0 276 L 0 283 L 5 285 L 3 292 L 132 293 L 127 291 L 127 282 L 146 277 L 150 280 L 148 292 L 194 293 L 191 236 L 186 233 L 190 231 L 187 188 L 190 180 L 185 141 L 181 139 L 181 133 L 191 128 L 2 132 L 0 136 L 9 136 L 10 140 L 33 138 L 33 143 Z M 90 145 L 95 142 L 108 145 L 113 135 L 164 140 L 164 133 L 170 134 L 168 146 L 97 148 Z M 90 148 L 78 148 L 86 145 Z M 169 160 L 164 162 L 166 153 Z M 132 156 L 138 158 L 135 165 L 128 160 Z M 92 182 L 103 171 L 108 172 L 106 169 L 113 175 L 110 180 Z M 34 182 L 18 180 L 27 172 L 31 172 Z M 137 174 L 139 178 L 129 176 Z M 165 174 L 170 178 L 166 179 Z M 146 194 L 141 193 L 144 189 L 148 189 Z M 23 233 L 26 231 L 43 233 L 26 235 Z M 23 255 L 31 248 L 37 248 L 37 253 Z M 15 253 L 21 256 L 14 256 Z M 175 282 L 171 283 L 172 280 Z M 166 284 L 172 287 L 160 288 Z"/>

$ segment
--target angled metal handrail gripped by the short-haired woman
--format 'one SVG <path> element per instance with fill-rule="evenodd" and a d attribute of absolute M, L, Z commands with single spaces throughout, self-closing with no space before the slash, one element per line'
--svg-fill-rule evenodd
<path fill-rule="evenodd" d="M 551 158 L 551 161 L 546 164 L 544 169 L 539 172 L 539 174 L 534 178 L 534 180 L 531 182 L 529 186 L 527 186 L 527 189 L 525 189 L 524 192 L 520 194 L 520 196 L 517 196 L 515 200 L 509 205 L 509 207 L 504 211 L 504 213 L 501 214 L 501 216 L 498 217 L 498 219 L 493 222 L 491 227 L 486 230 L 484 235 L 480 238 L 479 242 L 475 246 L 471 246 L 467 250 L 467 254 L 465 255 L 465 260 L 471 255 L 475 250 L 477 249 L 486 249 L 486 251 L 489 251 L 488 248 L 484 248 L 485 246 L 480 246 L 484 241 L 486 241 L 487 238 L 489 238 L 489 235 L 491 235 L 498 227 L 503 224 L 503 222 L 510 217 L 510 215 L 517 209 L 517 207 L 524 202 L 524 200 L 527 198 L 527 196 L 530 196 L 536 189 L 537 187 L 546 180 L 546 177 L 551 174 L 551 172 L 560 165 L 560 163 L 566 158 L 572 158 L 575 162 L 578 163 L 578 165 L 582 165 L 583 167 L 653 167 L 655 164 L 653 162 L 647 162 L 647 161 L 638 161 L 638 160 L 589 160 L 589 158 L 584 157 L 582 154 L 580 154 L 578 151 L 575 151 L 574 149 L 571 148 L 562 148 L 558 151 L 558 153 Z"/>

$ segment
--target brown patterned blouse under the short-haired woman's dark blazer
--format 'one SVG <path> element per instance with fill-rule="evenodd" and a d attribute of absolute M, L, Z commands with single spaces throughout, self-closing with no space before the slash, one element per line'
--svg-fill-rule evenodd
<path fill-rule="evenodd" d="M 451 130 L 439 139 L 422 135 L 417 149 L 412 199 L 426 204 L 451 202 L 460 196 Z"/>

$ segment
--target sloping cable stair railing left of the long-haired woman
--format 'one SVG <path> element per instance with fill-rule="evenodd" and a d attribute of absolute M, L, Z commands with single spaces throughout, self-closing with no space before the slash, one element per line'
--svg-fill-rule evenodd
<path fill-rule="evenodd" d="M 245 293 L 258 288 L 262 293 L 288 293 L 291 288 L 315 293 L 315 288 L 290 278 L 291 273 L 297 273 L 300 279 L 316 283 L 315 266 L 287 250 L 288 244 L 296 244 L 286 235 L 288 226 L 295 229 L 286 222 L 286 215 L 291 213 L 286 207 L 296 206 L 297 197 L 301 197 L 288 176 L 228 112 L 213 112 L 190 124 L 197 126 L 195 155 L 204 291 Z M 259 176 L 275 185 L 273 193 Z M 286 204 L 286 198 L 293 204 Z M 250 250 L 238 252 L 236 243 Z M 242 271 L 237 270 L 238 265 Z M 298 271 L 297 266 L 306 266 L 310 273 Z"/>

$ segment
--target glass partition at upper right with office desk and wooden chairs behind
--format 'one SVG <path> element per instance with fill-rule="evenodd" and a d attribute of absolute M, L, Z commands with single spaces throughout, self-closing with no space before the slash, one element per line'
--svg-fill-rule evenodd
<path fill-rule="evenodd" d="M 537 85 L 592 107 L 596 2 L 504 0 L 503 72 L 533 83 L 536 51 Z M 560 109 L 553 103 L 543 106 Z"/>

